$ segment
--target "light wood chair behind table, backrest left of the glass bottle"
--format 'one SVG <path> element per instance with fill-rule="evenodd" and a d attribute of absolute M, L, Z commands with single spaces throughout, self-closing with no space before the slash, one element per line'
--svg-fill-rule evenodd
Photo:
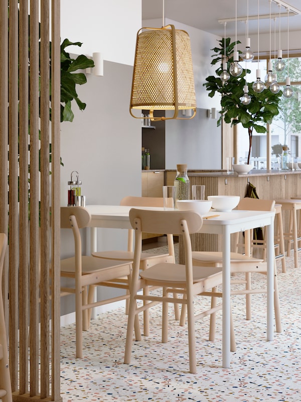
<path fill-rule="evenodd" d="M 169 198 L 170 207 L 173 206 L 173 198 Z M 126 196 L 121 199 L 120 205 L 127 207 L 162 207 L 163 208 L 163 197 L 137 197 L 137 196 Z M 127 238 L 127 250 L 109 250 L 109 251 L 97 251 L 92 253 L 94 257 L 113 259 L 113 260 L 128 260 L 132 261 L 134 258 L 133 251 L 133 229 L 128 230 Z M 164 254 L 150 254 L 141 253 L 140 256 L 140 269 L 144 270 L 152 265 L 158 264 L 160 262 L 175 262 L 175 249 L 174 249 L 174 239 L 173 235 L 167 234 L 168 242 L 168 253 Z M 118 278 L 111 281 L 102 282 L 103 286 L 113 286 L 120 287 L 123 289 L 128 289 L 127 278 Z M 145 294 L 151 289 L 144 288 Z M 128 312 L 128 306 L 126 307 L 126 312 Z M 179 306 L 175 305 L 175 318 L 180 319 Z M 143 319 L 143 335 L 149 335 L 149 325 L 148 325 L 148 311 L 144 312 Z"/>

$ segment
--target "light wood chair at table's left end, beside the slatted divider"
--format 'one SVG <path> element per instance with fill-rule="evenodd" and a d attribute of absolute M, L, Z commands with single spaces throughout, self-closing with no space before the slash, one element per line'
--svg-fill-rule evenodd
<path fill-rule="evenodd" d="M 89 226 L 91 216 L 84 207 L 61 207 L 61 228 L 72 229 L 74 236 L 74 257 L 61 260 L 61 277 L 73 280 L 61 287 L 61 295 L 75 293 L 76 357 L 82 357 L 82 331 L 88 330 L 87 309 L 126 299 L 128 294 L 93 302 L 94 294 L 88 293 L 88 286 L 101 282 L 131 276 L 131 261 L 98 259 L 82 255 L 80 229 Z"/>

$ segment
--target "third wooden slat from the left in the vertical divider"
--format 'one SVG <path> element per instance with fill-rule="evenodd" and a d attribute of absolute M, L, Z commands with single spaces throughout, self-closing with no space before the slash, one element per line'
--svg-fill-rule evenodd
<path fill-rule="evenodd" d="M 28 0 L 20 1 L 19 29 L 19 331 L 20 393 L 28 391 L 29 237 L 28 237 Z"/>

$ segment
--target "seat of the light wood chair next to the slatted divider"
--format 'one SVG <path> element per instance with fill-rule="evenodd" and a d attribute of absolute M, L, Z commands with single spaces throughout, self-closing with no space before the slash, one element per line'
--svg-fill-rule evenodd
<path fill-rule="evenodd" d="M 90 274 L 96 271 L 101 271 L 102 273 L 105 270 L 112 271 L 113 268 L 122 268 L 124 269 L 124 275 L 128 275 L 129 273 L 129 265 L 131 261 L 113 261 L 113 260 L 99 260 L 94 257 L 83 255 L 82 257 L 82 274 Z M 61 272 L 66 273 L 74 273 L 75 272 L 75 258 L 65 258 L 61 260 Z M 111 275 L 110 275 L 111 276 Z M 105 280 L 105 279 L 103 279 Z"/>

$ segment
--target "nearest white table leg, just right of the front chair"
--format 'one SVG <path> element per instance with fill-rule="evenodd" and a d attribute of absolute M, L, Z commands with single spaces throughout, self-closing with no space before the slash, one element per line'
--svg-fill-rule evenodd
<path fill-rule="evenodd" d="M 230 367 L 230 230 L 223 226 L 223 367 Z"/>

